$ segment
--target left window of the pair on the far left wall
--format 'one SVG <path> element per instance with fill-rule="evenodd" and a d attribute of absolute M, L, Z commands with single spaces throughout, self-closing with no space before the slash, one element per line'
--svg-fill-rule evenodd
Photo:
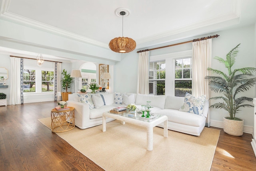
<path fill-rule="evenodd" d="M 23 92 L 36 92 L 36 71 L 24 69 Z"/>

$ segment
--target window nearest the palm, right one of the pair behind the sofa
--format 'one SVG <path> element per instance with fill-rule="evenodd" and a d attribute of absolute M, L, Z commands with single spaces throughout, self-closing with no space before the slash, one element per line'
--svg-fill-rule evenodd
<path fill-rule="evenodd" d="M 175 59 L 175 96 L 192 93 L 191 58 Z"/>

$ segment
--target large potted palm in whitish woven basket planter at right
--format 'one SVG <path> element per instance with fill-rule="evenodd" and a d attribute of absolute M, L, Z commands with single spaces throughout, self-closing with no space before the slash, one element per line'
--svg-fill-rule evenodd
<path fill-rule="evenodd" d="M 222 100 L 212 104 L 210 108 L 224 109 L 228 111 L 229 117 L 224 117 L 224 132 L 233 136 L 242 136 L 244 120 L 236 118 L 236 114 L 242 107 L 254 107 L 246 102 L 252 102 L 253 99 L 241 96 L 241 92 L 245 92 L 256 84 L 256 78 L 252 73 L 256 68 L 246 67 L 232 70 L 235 58 L 238 54 L 238 44 L 227 55 L 226 60 L 221 57 L 215 57 L 217 61 L 223 63 L 228 70 L 228 74 L 217 69 L 207 68 L 208 71 L 219 76 L 206 76 L 210 90 L 216 93 L 222 93 L 223 96 L 212 97 L 209 100 Z M 240 94 L 240 96 L 238 96 Z"/>

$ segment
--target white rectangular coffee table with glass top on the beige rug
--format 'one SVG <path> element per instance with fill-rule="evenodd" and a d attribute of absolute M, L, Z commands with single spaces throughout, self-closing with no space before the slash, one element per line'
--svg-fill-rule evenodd
<path fill-rule="evenodd" d="M 110 112 L 104 112 L 102 114 L 102 132 L 106 131 L 106 117 L 120 120 L 122 124 L 128 122 L 130 124 L 138 125 L 147 128 L 147 150 L 153 150 L 153 128 L 158 124 L 164 122 L 164 137 L 168 137 L 168 118 L 166 115 L 154 114 L 154 118 L 146 119 L 141 118 L 139 114 L 133 117 L 128 116 L 128 113 L 114 114 Z"/>

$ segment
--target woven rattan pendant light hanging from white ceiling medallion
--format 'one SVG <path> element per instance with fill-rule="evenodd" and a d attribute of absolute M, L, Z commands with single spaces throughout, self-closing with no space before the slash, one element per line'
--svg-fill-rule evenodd
<path fill-rule="evenodd" d="M 119 14 L 118 12 L 122 10 Z M 126 11 L 126 12 L 125 12 Z M 123 37 L 124 33 L 124 16 L 128 16 L 129 12 L 127 10 L 118 8 L 116 9 L 116 15 L 122 16 L 122 37 L 115 37 L 114 39 L 110 40 L 109 48 L 117 53 L 128 53 L 133 51 L 136 48 L 136 41 L 129 37 Z M 128 14 L 127 14 L 128 12 Z"/>

